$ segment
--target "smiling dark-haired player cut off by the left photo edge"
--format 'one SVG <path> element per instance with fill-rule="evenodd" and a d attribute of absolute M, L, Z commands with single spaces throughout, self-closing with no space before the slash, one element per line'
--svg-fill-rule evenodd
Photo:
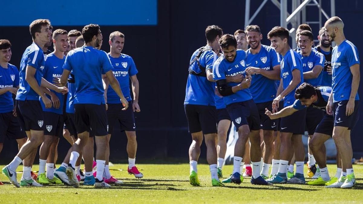
<path fill-rule="evenodd" d="M 11 60 L 11 43 L 0 40 L 0 152 L 3 150 L 5 138 L 15 139 L 19 149 L 26 142 L 24 132 L 16 118 L 12 94 L 19 89 L 19 71 L 9 63 Z M 0 182 L 0 185 L 3 183 Z"/>

